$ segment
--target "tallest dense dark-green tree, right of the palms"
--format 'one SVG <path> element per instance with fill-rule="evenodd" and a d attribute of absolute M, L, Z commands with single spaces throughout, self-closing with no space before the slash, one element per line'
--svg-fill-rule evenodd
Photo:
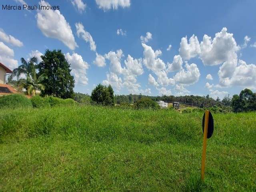
<path fill-rule="evenodd" d="M 42 96 L 52 95 L 60 98 L 74 97 L 74 77 L 70 74 L 70 64 L 61 50 L 46 50 L 38 64 L 38 76 L 44 74 L 47 79 L 42 80 L 45 89 Z"/>

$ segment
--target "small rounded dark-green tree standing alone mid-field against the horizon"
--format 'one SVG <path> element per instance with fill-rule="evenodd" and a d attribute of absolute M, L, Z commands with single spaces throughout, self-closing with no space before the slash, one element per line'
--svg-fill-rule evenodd
<path fill-rule="evenodd" d="M 114 105 L 114 90 L 109 85 L 108 87 L 98 84 L 91 94 L 92 101 L 102 105 Z"/>

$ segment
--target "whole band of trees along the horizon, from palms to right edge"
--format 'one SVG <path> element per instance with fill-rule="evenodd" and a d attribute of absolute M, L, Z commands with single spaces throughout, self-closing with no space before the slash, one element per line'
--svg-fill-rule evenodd
<path fill-rule="evenodd" d="M 78 102 L 94 102 L 95 104 L 114 105 L 114 104 L 134 104 L 142 98 L 149 98 L 152 101 L 180 102 L 197 106 L 200 108 L 232 107 L 234 112 L 256 110 L 256 93 L 250 89 L 244 89 L 239 95 L 235 94 L 232 98 L 228 95 L 222 100 L 216 100 L 207 96 L 145 96 L 142 94 L 114 95 L 111 85 L 104 86 L 98 84 L 92 90 L 91 96 L 74 93 L 74 77 L 70 74 L 70 64 L 66 60 L 61 50 L 46 50 L 41 56 L 42 61 L 38 63 L 36 57 L 30 58 L 27 62 L 21 58 L 21 65 L 13 70 L 8 77 L 8 84 L 12 84 L 18 89 L 26 89 L 28 95 L 34 96 L 40 90 L 41 96 L 55 96 L 59 98 L 74 98 Z M 14 80 L 16 77 L 16 80 Z"/>

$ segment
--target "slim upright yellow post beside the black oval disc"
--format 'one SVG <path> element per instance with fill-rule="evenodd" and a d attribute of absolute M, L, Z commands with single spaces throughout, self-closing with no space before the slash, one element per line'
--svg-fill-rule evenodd
<path fill-rule="evenodd" d="M 202 167 L 201 167 L 201 179 L 202 180 L 204 180 L 204 169 L 205 169 L 205 160 L 206 160 L 206 142 L 207 142 L 208 122 L 209 122 L 209 110 L 206 110 L 205 111 L 205 117 L 204 117 L 204 140 L 203 140 Z"/>

